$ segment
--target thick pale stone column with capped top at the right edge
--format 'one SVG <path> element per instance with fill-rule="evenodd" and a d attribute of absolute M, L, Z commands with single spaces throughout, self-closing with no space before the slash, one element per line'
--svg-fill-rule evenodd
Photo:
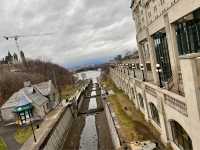
<path fill-rule="evenodd" d="M 200 54 L 180 57 L 193 149 L 200 149 Z"/>

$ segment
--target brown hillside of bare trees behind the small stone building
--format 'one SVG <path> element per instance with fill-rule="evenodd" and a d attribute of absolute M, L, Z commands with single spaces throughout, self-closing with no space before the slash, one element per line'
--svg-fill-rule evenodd
<path fill-rule="evenodd" d="M 0 66 L 0 104 L 24 86 L 25 81 L 36 84 L 52 80 L 59 89 L 73 83 L 72 73 L 51 62 L 29 60 L 28 68 L 22 64 Z"/>

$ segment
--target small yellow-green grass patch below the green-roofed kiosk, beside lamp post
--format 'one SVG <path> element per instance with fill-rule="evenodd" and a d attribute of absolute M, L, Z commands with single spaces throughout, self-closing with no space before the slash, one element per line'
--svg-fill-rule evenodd
<path fill-rule="evenodd" d="M 15 132 L 14 138 L 19 144 L 24 144 L 26 140 L 32 135 L 31 127 L 19 128 Z"/>

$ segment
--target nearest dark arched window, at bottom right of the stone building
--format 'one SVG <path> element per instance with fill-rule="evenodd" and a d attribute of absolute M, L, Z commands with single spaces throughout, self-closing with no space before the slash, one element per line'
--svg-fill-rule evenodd
<path fill-rule="evenodd" d="M 181 150 L 192 150 L 192 140 L 189 135 L 183 129 L 183 127 L 176 121 L 170 121 L 172 136 L 174 143 Z"/>

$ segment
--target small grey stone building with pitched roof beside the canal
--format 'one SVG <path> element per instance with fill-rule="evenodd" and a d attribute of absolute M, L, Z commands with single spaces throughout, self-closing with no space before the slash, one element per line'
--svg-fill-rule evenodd
<path fill-rule="evenodd" d="M 21 101 L 32 105 L 33 118 L 42 119 L 58 103 L 57 90 L 51 81 L 32 85 L 24 83 L 24 88 L 14 93 L 1 107 L 1 116 L 4 121 L 16 120 L 15 109 Z"/>

